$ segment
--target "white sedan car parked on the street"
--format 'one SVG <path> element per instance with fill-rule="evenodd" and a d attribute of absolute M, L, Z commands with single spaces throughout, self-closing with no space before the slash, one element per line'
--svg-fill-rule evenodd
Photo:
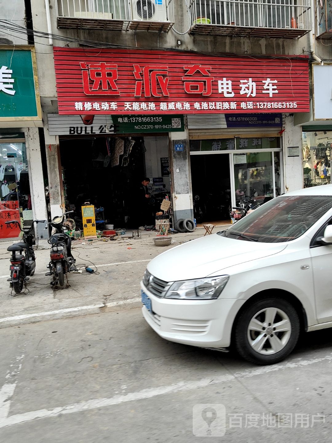
<path fill-rule="evenodd" d="M 167 250 L 141 290 L 144 318 L 162 338 L 281 361 L 301 330 L 332 327 L 332 185 L 281 195 Z"/>

